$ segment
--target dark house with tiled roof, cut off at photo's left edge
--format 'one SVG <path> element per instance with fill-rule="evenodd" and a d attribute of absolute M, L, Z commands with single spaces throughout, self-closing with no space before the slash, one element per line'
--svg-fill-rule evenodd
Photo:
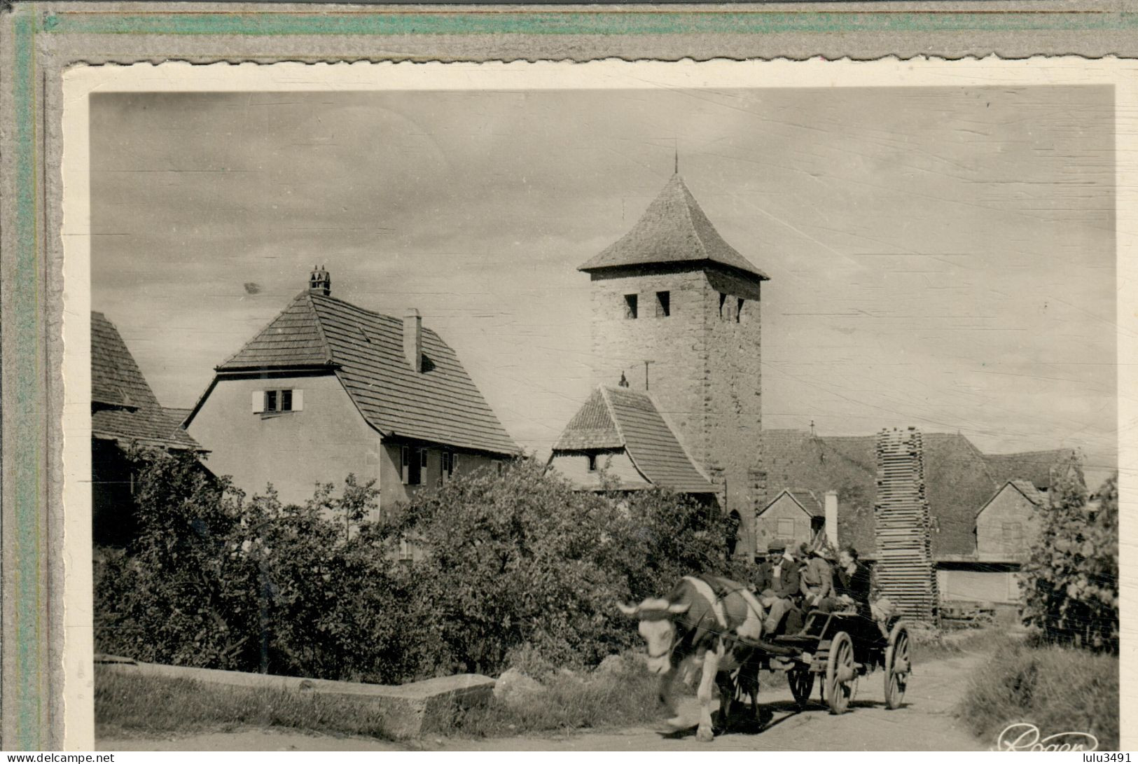
<path fill-rule="evenodd" d="M 94 543 L 122 544 L 133 528 L 137 449 L 203 447 L 164 408 L 115 325 L 91 313 L 91 514 Z"/>

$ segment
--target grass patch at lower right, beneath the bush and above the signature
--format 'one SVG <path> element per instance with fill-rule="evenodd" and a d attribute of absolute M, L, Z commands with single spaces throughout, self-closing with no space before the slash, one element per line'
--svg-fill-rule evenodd
<path fill-rule="evenodd" d="M 1015 722 L 1040 737 L 1090 732 L 1099 750 L 1119 749 L 1119 658 L 1059 647 L 1007 644 L 976 667 L 958 708 L 992 745 Z"/>

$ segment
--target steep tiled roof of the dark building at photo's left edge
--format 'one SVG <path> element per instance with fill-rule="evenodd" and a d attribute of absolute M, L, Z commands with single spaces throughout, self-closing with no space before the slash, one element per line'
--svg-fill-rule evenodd
<path fill-rule="evenodd" d="M 91 313 L 91 435 L 167 449 L 200 450 L 175 413 L 163 409 L 118 330 Z"/>

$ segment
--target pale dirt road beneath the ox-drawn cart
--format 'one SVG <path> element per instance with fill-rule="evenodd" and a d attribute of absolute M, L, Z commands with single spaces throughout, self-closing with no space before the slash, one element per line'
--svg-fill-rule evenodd
<path fill-rule="evenodd" d="M 982 656 L 964 655 L 918 663 L 905 696 L 905 706 L 887 710 L 880 672 L 863 677 L 852 708 L 831 716 L 813 703 L 798 712 L 784 683 L 762 689 L 761 701 L 772 718 L 762 728 L 740 729 L 695 740 L 698 709 L 685 698 L 681 713 L 692 729 L 661 734 L 652 728 L 561 736 L 493 738 L 426 738 L 396 745 L 370 738 L 306 736 L 282 730 L 214 732 L 164 740 L 99 740 L 99 750 L 982 750 L 991 744 L 976 740 L 951 715 L 965 691 L 971 669 Z M 817 688 L 813 696 L 817 698 Z"/>

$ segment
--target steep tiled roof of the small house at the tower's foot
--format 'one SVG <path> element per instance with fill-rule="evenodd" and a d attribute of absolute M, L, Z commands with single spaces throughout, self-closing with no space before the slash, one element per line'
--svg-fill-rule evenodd
<path fill-rule="evenodd" d="M 715 491 L 687 458 L 649 394 L 627 387 L 597 387 L 566 426 L 553 452 L 621 447 L 653 485 L 684 493 Z"/>

